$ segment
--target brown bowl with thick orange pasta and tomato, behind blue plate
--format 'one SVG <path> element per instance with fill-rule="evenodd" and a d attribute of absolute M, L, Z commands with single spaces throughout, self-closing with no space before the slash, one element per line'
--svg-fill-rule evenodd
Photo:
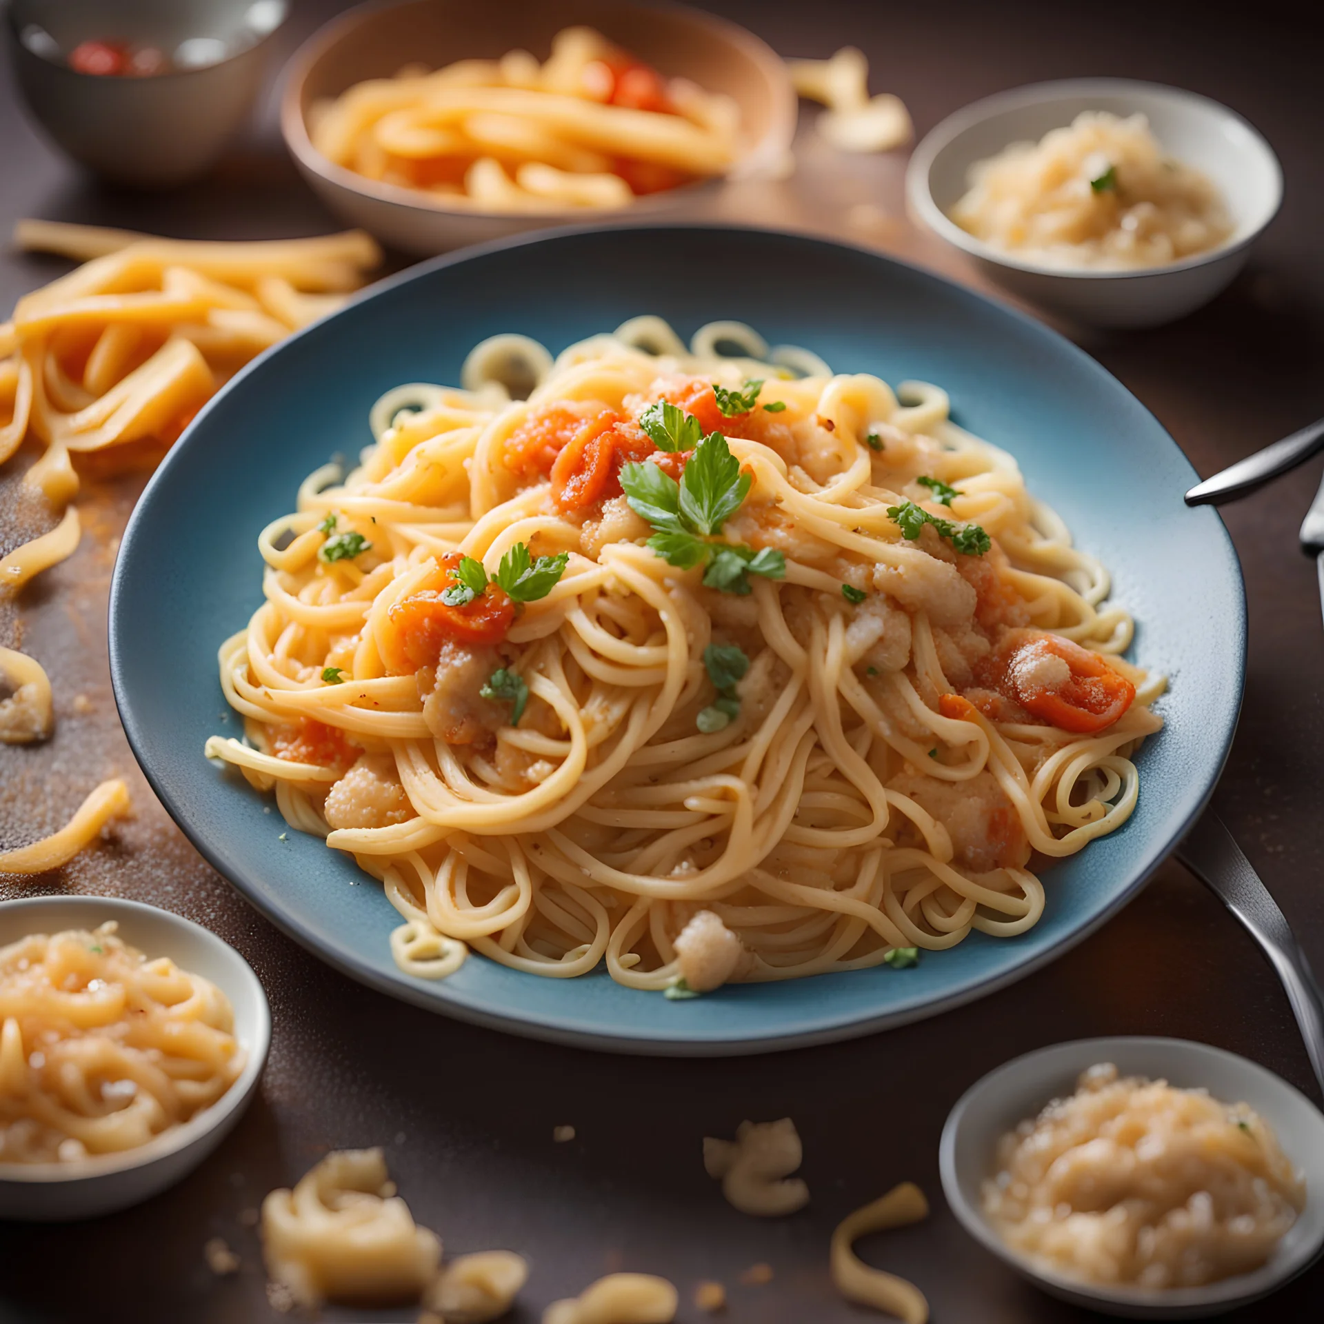
<path fill-rule="evenodd" d="M 572 221 L 715 213 L 776 173 L 796 94 L 752 33 L 679 5 L 406 0 L 294 56 L 281 128 L 327 205 L 416 254 Z"/>

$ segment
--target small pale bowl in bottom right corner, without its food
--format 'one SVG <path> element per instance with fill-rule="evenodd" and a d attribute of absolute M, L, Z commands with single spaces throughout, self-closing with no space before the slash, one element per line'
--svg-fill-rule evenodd
<path fill-rule="evenodd" d="M 1204 1086 L 1215 1099 L 1249 1103 L 1305 1173 L 1305 1209 L 1272 1258 L 1251 1274 L 1169 1291 L 1102 1287 L 1046 1270 L 1010 1250 L 985 1219 L 981 1185 L 996 1170 L 997 1141 L 1054 1098 L 1072 1094 L 1082 1071 L 1112 1062 L 1123 1075 Z M 1324 1249 L 1324 1113 L 1286 1080 L 1234 1053 L 1189 1039 L 1076 1039 L 1027 1053 L 976 1082 L 952 1108 L 939 1149 L 943 1192 L 965 1230 L 1046 1292 L 1106 1315 L 1206 1319 L 1276 1291 Z"/>

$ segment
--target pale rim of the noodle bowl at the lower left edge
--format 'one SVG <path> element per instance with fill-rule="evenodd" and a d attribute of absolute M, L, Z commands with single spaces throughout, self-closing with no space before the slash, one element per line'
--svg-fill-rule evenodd
<path fill-rule="evenodd" d="M 211 929 L 203 928 L 201 924 L 196 924 L 193 920 L 185 919 L 183 915 L 176 915 L 173 911 L 164 910 L 160 906 L 148 906 L 146 902 L 134 902 L 124 896 L 97 896 L 85 892 L 56 892 L 44 896 L 20 896 L 13 900 L 0 902 L 0 914 L 12 915 L 24 910 L 41 910 L 49 907 L 54 907 L 57 910 L 103 907 L 110 912 L 119 912 L 118 915 L 109 914 L 106 916 L 107 919 L 150 915 L 155 919 L 164 919 L 167 927 L 175 925 L 185 932 L 189 932 L 195 941 L 201 941 L 204 945 L 212 947 L 213 951 L 224 952 L 221 959 L 232 964 L 233 980 L 228 981 L 228 986 L 216 981 L 217 986 L 221 988 L 221 992 L 225 993 L 226 997 L 229 997 L 230 988 L 238 982 L 244 982 L 249 986 L 249 992 L 256 994 L 253 1000 L 253 1005 L 256 1008 L 253 1042 L 244 1045 L 248 1049 L 248 1061 L 244 1063 L 244 1070 L 240 1072 L 234 1083 L 216 1100 L 216 1103 L 203 1108 L 181 1125 L 175 1127 L 171 1131 L 162 1132 L 162 1135 L 148 1140 L 147 1144 L 138 1145 L 136 1149 L 122 1149 L 117 1153 L 95 1155 L 71 1164 L 0 1162 L 0 1186 L 70 1185 L 81 1181 L 110 1177 L 138 1168 L 147 1168 L 171 1157 L 172 1155 L 188 1149 L 204 1135 L 222 1127 L 237 1110 L 244 1107 L 249 1096 L 253 1094 L 253 1090 L 257 1087 L 262 1071 L 266 1067 L 266 1058 L 271 1046 L 271 1006 L 267 1001 L 266 990 L 262 988 L 262 981 L 257 977 L 253 967 L 249 965 L 244 956 Z M 71 923 L 77 923 L 77 920 Z M 37 932 L 40 932 L 40 929 Z M 236 1030 L 238 1030 L 238 1026 L 236 1026 Z M 236 1038 L 238 1038 L 238 1034 L 236 1034 Z"/>

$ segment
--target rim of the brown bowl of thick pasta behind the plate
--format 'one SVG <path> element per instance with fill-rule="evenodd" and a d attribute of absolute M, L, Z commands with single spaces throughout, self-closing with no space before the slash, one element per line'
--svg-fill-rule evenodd
<path fill-rule="evenodd" d="M 755 175 L 764 168 L 771 168 L 776 159 L 790 150 L 792 139 L 796 134 L 798 115 L 798 98 L 786 73 L 785 61 L 761 37 L 748 28 L 720 15 L 695 9 L 688 4 L 677 4 L 673 0 L 665 3 L 651 3 L 651 0 L 617 0 L 620 8 L 636 11 L 651 11 L 654 13 L 671 13 L 708 32 L 719 32 L 728 41 L 743 46 L 753 64 L 759 65 L 769 74 L 771 85 L 780 85 L 776 99 L 781 103 L 773 107 L 773 122 L 768 131 L 753 143 L 726 172 L 710 175 L 704 179 L 691 180 L 678 188 L 663 189 L 659 193 L 646 193 L 636 197 L 625 207 L 618 208 L 587 208 L 587 207 L 560 207 L 548 208 L 539 212 L 493 212 L 477 207 L 448 207 L 440 197 L 432 197 L 421 189 L 405 188 L 400 184 L 383 184 L 380 180 L 367 179 L 355 171 L 346 169 L 335 162 L 323 156 L 312 146 L 308 135 L 307 120 L 303 117 L 303 86 L 308 74 L 322 57 L 335 44 L 342 41 L 355 29 L 369 23 L 377 15 L 388 9 L 399 9 L 405 4 L 417 0 L 365 0 L 363 4 L 347 9 L 336 17 L 324 23 L 290 56 L 279 78 L 279 119 L 281 136 L 295 163 L 305 171 L 326 180 L 338 188 L 356 193 L 360 197 L 371 199 L 375 203 L 387 203 L 392 207 L 408 208 L 409 211 L 432 213 L 437 216 L 457 217 L 474 221 L 518 221 L 524 226 L 563 225 L 576 221 L 601 220 L 612 222 L 621 217 L 647 216 L 651 212 L 662 211 L 667 203 L 678 197 L 692 197 L 698 192 L 711 191 L 728 179 L 743 179 Z M 514 48 L 512 48 L 514 49 Z M 780 77 L 773 73 L 780 70 Z"/>

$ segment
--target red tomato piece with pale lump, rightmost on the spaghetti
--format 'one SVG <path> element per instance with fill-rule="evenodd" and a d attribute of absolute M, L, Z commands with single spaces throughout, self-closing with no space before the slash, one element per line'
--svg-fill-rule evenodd
<path fill-rule="evenodd" d="M 1102 654 L 1058 634 L 1012 630 L 990 663 L 993 688 L 1059 731 L 1111 727 L 1136 698 L 1136 687 Z"/>

